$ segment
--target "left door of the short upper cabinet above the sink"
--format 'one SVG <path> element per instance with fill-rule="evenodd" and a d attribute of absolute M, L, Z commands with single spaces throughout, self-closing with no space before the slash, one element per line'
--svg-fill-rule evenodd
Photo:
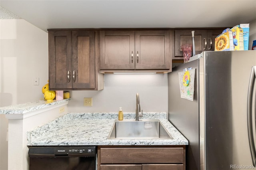
<path fill-rule="evenodd" d="M 100 31 L 100 69 L 134 69 L 134 31 Z"/>

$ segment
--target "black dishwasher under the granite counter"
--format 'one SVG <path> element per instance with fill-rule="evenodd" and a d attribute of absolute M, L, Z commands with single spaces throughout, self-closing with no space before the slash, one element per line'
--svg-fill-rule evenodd
<path fill-rule="evenodd" d="M 96 146 L 30 147 L 30 170 L 95 170 Z"/>

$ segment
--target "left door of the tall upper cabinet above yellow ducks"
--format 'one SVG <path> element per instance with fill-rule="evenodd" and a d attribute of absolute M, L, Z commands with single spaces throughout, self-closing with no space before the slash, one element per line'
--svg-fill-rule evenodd
<path fill-rule="evenodd" d="M 72 32 L 49 31 L 48 38 L 49 89 L 71 89 L 68 71 L 72 71 Z"/>

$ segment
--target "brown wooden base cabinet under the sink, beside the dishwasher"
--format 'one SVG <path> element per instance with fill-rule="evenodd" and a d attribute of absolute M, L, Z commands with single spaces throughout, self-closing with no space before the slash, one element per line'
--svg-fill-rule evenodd
<path fill-rule="evenodd" d="M 98 170 L 185 170 L 179 146 L 98 146 Z"/>

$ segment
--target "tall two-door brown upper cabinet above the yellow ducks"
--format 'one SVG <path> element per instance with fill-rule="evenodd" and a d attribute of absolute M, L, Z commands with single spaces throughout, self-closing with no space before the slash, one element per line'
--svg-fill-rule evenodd
<path fill-rule="evenodd" d="M 49 31 L 48 34 L 49 89 L 98 90 L 95 31 Z"/>

